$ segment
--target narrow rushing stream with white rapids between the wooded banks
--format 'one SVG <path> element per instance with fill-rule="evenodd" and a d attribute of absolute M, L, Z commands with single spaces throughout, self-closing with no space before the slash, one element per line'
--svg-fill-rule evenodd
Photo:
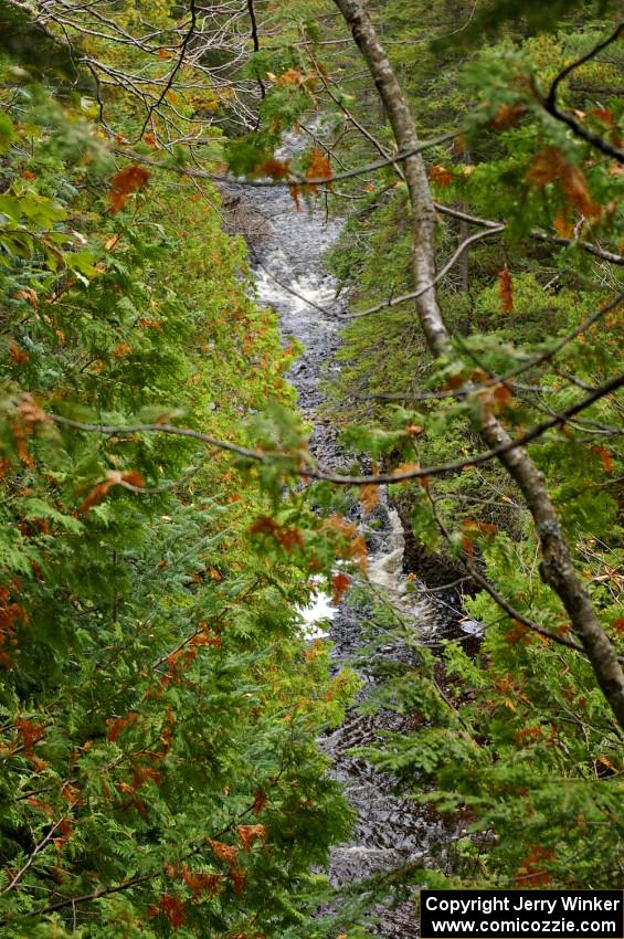
<path fill-rule="evenodd" d="M 287 146 L 292 152 L 296 138 Z M 289 379 L 297 389 L 300 411 L 314 426 L 310 451 L 324 467 L 336 468 L 343 465 L 345 455 L 335 429 L 318 411 L 324 401 L 319 381 L 339 368 L 334 356 L 339 345 L 338 317 L 346 298 L 337 298 L 337 283 L 325 270 L 322 254 L 338 238 L 341 223 L 326 215 L 320 199 L 314 207 L 302 200 L 297 211 L 287 189 L 279 187 L 245 188 L 225 193 L 225 203 L 228 199 L 235 209 L 234 226 L 244 231 L 251 245 L 258 300 L 278 313 L 285 341 L 296 337 L 304 346 Z M 431 642 L 444 630 L 443 609 L 414 590 L 403 573 L 403 529 L 385 492 L 381 492 L 371 517 L 360 515 L 359 523 L 369 544 L 368 580 L 372 590 L 396 610 L 416 641 Z M 378 682 L 376 665 L 383 658 L 405 662 L 405 656 L 413 657 L 412 644 L 391 634 L 384 642 L 381 625 L 376 636 L 374 612 L 367 603 L 353 605 L 347 599 L 336 609 L 320 593 L 303 615 L 309 635 L 326 635 L 331 641 L 336 668 L 355 661 L 362 680 L 362 690 L 345 722 L 321 741 L 331 758 L 332 774 L 342 783 L 357 815 L 351 842 L 331 853 L 331 883 L 358 883 L 376 872 L 438 854 L 450 837 L 447 825 L 425 808 L 401 798 L 391 776 L 349 752 L 374 742 L 382 731 L 400 731 L 404 726 L 402 716 L 389 710 L 363 715 L 360 706 Z M 372 657 L 363 655 L 371 636 L 377 639 Z M 417 936 L 411 898 L 382 903 L 374 914 L 379 936 Z"/>

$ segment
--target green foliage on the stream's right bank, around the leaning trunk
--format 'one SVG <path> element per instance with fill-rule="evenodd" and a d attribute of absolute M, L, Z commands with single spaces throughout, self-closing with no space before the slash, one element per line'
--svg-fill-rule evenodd
<path fill-rule="evenodd" d="M 477 418 L 495 413 L 511 434 L 521 433 L 622 371 L 618 268 L 575 242 L 600 239 L 621 252 L 621 167 L 553 119 L 540 99 L 558 72 L 613 24 L 589 20 L 578 31 L 580 14 L 568 6 L 562 21 L 554 4 L 539 11 L 525 4 L 530 27 L 556 31 L 526 38 L 511 23 L 491 48 L 472 52 L 461 72 L 462 38 L 451 34 L 433 50 L 410 42 L 416 6 L 419 22 L 426 22 L 419 4 L 392 2 L 380 7 L 377 21 L 423 138 L 448 127 L 463 131 L 457 144 L 425 155 L 434 198 L 469 215 L 504 219 L 507 228 L 469 249 L 463 274 L 456 265 L 443 279 L 440 299 L 454 345 L 437 366 L 424 355 L 409 303 L 347 327 L 334 412 L 348 426 L 349 444 L 383 470 L 469 461 L 480 447 L 466 434 L 466 419 L 476 430 Z M 432 19 L 444 6 L 431 7 Z M 508 4 L 509 13 L 516 7 Z M 489 25 L 498 28 L 496 18 Z M 430 35 L 436 27 L 442 33 L 444 20 L 431 23 Z M 483 33 L 483 20 L 478 29 Z M 584 128 L 621 145 L 620 60 L 613 46 L 589 61 L 559 96 Z M 362 85 L 353 97 L 351 112 L 363 120 L 370 91 Z M 359 182 L 351 192 L 358 187 L 358 211 L 330 257 L 356 314 L 410 291 L 411 245 L 405 191 L 393 169 L 368 192 Z M 472 231 L 441 214 L 441 255 L 451 256 Z M 533 239 L 536 231 L 562 239 L 562 246 Z M 516 370 L 517 386 L 497 382 Z M 468 393 L 455 397 L 464 387 Z M 606 397 L 541 436 L 530 453 L 575 546 L 594 609 L 622 650 L 620 415 L 616 395 Z M 620 735 L 586 660 L 557 643 L 573 639 L 570 623 L 540 580 L 537 532 L 517 488 L 485 463 L 392 489 L 414 538 L 442 555 L 441 563 L 445 556 L 485 576 L 518 619 L 477 583 L 463 610 L 484 624 L 483 641 L 447 640 L 440 660 L 423 653 L 412 634 L 419 665 L 396 664 L 377 694 L 380 707 L 406 715 L 405 725 L 359 756 L 393 772 L 403 791 L 464 831 L 447 866 L 448 886 L 618 886 Z M 400 618 L 394 631 L 398 641 L 410 641 Z M 404 879 L 431 885 L 432 876 L 438 882 L 431 868 Z"/>

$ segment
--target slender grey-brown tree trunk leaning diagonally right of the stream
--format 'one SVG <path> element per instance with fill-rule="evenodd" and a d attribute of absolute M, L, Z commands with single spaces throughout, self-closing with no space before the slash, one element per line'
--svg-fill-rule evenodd
<path fill-rule="evenodd" d="M 348 23 L 356 44 L 372 75 L 392 126 L 399 151 L 415 150 L 419 137 L 408 101 L 396 80 L 388 55 L 360 0 L 334 0 Z M 424 161 L 420 154 L 403 160 L 405 181 L 412 204 L 412 278 L 416 291 L 435 277 L 435 210 Z M 435 288 L 425 291 L 416 300 L 417 315 L 431 352 L 435 357 L 451 351 Z M 509 434 L 494 416 L 484 416 L 480 434 L 489 447 L 510 441 Z M 550 502 L 542 473 L 527 452 L 514 447 L 499 454 L 500 462 L 520 488 L 536 523 L 542 560 L 540 573 L 561 599 L 572 627 L 591 662 L 596 680 L 624 729 L 624 672 L 609 637 L 592 608 L 572 563 L 570 549 Z"/>

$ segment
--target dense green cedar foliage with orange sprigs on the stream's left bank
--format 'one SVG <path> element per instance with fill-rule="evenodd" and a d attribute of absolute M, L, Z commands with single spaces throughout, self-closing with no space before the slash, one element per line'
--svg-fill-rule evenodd
<path fill-rule="evenodd" d="M 350 817 L 315 738 L 355 683 L 329 676 L 297 608 L 337 536 L 284 471 L 263 492 L 197 442 L 47 416 L 255 445 L 269 401 L 300 452 L 293 352 L 215 189 L 115 165 L 88 103 L 10 70 L 0 933 L 309 936 L 310 865 Z M 293 544 L 248 534 L 269 515 L 293 517 Z"/>

